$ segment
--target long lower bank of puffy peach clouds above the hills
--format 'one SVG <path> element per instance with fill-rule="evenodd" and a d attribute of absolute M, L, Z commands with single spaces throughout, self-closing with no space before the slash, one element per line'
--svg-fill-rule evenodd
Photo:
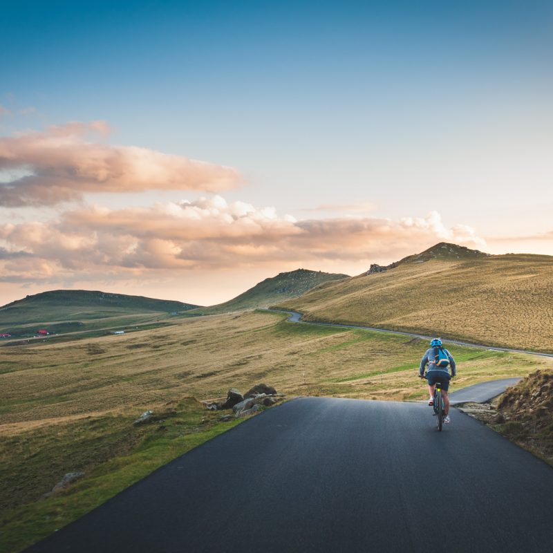
<path fill-rule="evenodd" d="M 470 227 L 445 227 L 437 212 L 402 221 L 296 221 L 271 207 L 227 203 L 221 196 L 149 208 L 85 207 L 52 221 L 0 225 L 0 239 L 10 251 L 29 254 L 0 260 L 2 272 L 29 279 L 102 271 L 153 278 L 164 271 L 368 264 L 383 257 L 394 261 L 443 240 L 485 245 Z"/>

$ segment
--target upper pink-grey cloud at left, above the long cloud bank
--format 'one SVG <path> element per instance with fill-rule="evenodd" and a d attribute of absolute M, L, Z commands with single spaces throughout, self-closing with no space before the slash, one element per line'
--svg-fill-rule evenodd
<path fill-rule="evenodd" d="M 106 122 L 72 122 L 46 132 L 0 138 L 0 171 L 28 176 L 0 185 L 0 205 L 55 205 L 86 192 L 197 190 L 216 192 L 241 185 L 232 167 L 133 146 L 91 142 L 109 135 Z"/>

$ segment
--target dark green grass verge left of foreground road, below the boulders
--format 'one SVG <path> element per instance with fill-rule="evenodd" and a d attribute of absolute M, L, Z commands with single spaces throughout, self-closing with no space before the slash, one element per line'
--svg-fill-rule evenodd
<path fill-rule="evenodd" d="M 243 421 L 220 422 L 219 415 L 189 398 L 141 427 L 133 427 L 134 417 L 111 415 L 4 441 L 0 483 L 7 499 L 0 514 L 0 550 L 23 550 Z M 80 470 L 85 478 L 41 498 L 66 472 Z"/>

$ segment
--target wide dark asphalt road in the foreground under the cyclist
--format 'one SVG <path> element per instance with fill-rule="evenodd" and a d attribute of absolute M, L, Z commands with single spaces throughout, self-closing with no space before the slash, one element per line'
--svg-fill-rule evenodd
<path fill-rule="evenodd" d="M 451 418 L 438 433 L 421 404 L 299 398 L 30 551 L 551 552 L 553 469 Z"/>

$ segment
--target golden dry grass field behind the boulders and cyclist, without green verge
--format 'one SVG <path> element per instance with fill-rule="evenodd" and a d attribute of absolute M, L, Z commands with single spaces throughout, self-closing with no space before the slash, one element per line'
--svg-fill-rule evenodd
<path fill-rule="evenodd" d="M 402 400 L 414 393 L 413 384 L 416 388 L 418 383 L 411 377 L 425 342 L 284 319 L 278 313 L 244 312 L 182 319 L 167 328 L 120 336 L 3 348 L 0 428 L 140 411 L 183 396 L 224 397 L 231 386 L 245 391 L 265 381 L 289 395 L 371 398 L 386 393 L 389 399 Z M 489 362 L 495 371 L 498 359 L 509 359 L 501 365 L 501 375 L 511 374 L 511 365 L 520 370 L 524 364 L 512 354 L 457 346 L 451 350 L 471 356 L 460 371 L 459 384 L 478 378 L 480 371 L 484 375 Z M 545 361 L 525 361 L 530 362 Z M 391 373 L 397 373 L 395 390 L 382 391 L 381 377 Z"/>

